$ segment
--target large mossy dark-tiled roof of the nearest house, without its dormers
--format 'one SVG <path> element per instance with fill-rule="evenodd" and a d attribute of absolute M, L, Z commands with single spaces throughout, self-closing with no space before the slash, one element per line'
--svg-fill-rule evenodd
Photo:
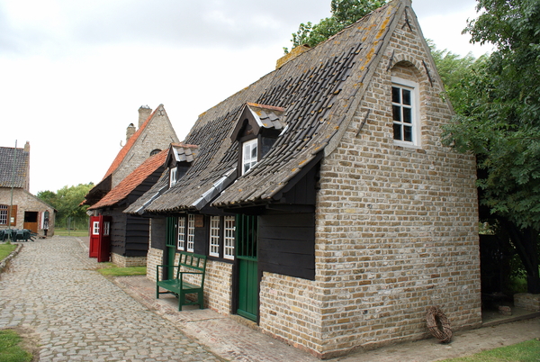
<path fill-rule="evenodd" d="M 212 205 L 272 202 L 302 167 L 335 147 L 406 7 L 410 0 L 392 1 L 202 113 L 184 140 L 199 146 L 193 166 L 174 187 L 154 195 L 146 211 L 200 209 L 202 195 L 237 167 L 238 142 L 230 135 L 250 103 L 283 108 L 280 120 L 286 129 L 266 157 L 238 176 Z"/>

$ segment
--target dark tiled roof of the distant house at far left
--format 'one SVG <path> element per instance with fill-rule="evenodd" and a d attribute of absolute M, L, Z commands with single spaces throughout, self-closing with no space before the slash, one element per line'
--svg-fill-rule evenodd
<path fill-rule="evenodd" d="M 16 149 L 16 152 L 15 158 L 14 148 L 0 147 L 0 187 L 25 188 L 28 185 L 30 152 L 24 149 Z"/>

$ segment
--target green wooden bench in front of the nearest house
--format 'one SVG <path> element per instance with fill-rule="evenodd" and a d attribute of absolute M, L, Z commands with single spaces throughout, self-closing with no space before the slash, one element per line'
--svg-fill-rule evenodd
<path fill-rule="evenodd" d="M 175 294 L 178 296 L 178 311 L 182 311 L 183 305 L 193 304 L 199 304 L 202 309 L 204 308 L 202 292 L 204 290 L 204 274 L 206 273 L 206 257 L 184 251 L 178 254 L 180 256 L 178 265 L 157 266 L 156 297 L 159 299 L 159 294 Z M 159 273 L 163 272 L 164 267 L 174 268 L 175 277 L 159 280 Z M 159 292 L 159 288 L 166 289 L 166 292 Z M 197 298 L 193 302 L 188 301 L 186 294 L 197 294 Z"/>

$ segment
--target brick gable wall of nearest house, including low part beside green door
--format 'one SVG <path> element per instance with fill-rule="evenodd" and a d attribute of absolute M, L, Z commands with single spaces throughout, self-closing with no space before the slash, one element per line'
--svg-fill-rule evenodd
<path fill-rule="evenodd" d="M 432 305 L 454 329 L 482 323 L 475 163 L 441 143 L 452 111 L 426 51 L 401 20 L 322 160 L 315 282 L 265 274 L 261 283 L 261 328 L 318 357 L 422 338 Z M 418 146 L 393 140 L 392 76 L 418 84 Z"/>

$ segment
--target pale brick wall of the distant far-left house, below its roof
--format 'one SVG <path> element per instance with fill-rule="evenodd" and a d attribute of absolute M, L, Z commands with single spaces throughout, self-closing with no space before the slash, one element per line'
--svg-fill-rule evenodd
<path fill-rule="evenodd" d="M 0 187 L 0 204 L 10 205 L 11 203 L 11 188 Z M 37 212 L 38 214 L 38 234 L 44 235 L 41 227 L 42 213 L 49 212 L 49 230 L 47 236 L 54 236 L 55 213 L 54 209 L 40 201 L 37 196 L 31 195 L 29 192 L 21 188 L 14 189 L 13 204 L 17 205 L 16 225 L 12 229 L 24 229 L 24 213 Z M 0 229 L 7 229 L 7 225 L 0 226 Z"/>

